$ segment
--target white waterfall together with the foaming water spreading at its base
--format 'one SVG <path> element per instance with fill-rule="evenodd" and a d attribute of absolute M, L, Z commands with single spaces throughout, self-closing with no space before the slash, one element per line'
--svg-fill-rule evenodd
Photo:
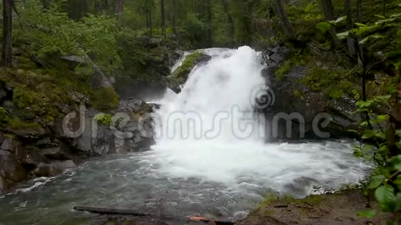
<path fill-rule="evenodd" d="M 352 157 L 346 141 L 265 144 L 263 124 L 252 113 L 252 93 L 264 84 L 259 53 L 246 46 L 209 53 L 212 60 L 192 70 L 180 94 L 160 101 L 151 155 L 160 171 L 275 190 L 299 179 L 331 188 L 362 179 L 368 166 Z M 252 132 L 244 133 L 245 126 Z"/>

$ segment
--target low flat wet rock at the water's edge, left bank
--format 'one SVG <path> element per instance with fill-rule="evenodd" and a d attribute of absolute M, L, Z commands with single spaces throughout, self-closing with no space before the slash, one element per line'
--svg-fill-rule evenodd
<path fill-rule="evenodd" d="M 63 173 L 68 168 L 74 168 L 75 164 L 72 160 L 52 162 L 51 164 L 40 163 L 34 170 L 37 177 L 53 177 Z"/>

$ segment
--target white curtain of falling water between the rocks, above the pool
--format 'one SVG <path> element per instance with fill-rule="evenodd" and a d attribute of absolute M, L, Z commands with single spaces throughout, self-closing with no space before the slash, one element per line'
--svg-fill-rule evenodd
<path fill-rule="evenodd" d="M 156 112 L 158 140 L 263 139 L 252 96 L 264 84 L 259 54 L 249 47 L 208 52 L 213 59 L 194 68 L 182 92 L 166 96 Z"/>

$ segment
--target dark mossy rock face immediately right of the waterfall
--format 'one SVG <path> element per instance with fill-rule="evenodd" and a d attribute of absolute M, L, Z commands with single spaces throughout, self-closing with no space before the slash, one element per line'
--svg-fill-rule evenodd
<path fill-rule="evenodd" d="M 330 99 L 324 92 L 313 91 L 302 84 L 300 79 L 307 76 L 307 66 L 293 66 L 278 78 L 275 72 L 286 61 L 290 50 L 276 47 L 268 48 L 266 52 L 270 56 L 266 57 L 267 66 L 262 76 L 265 77 L 266 85 L 272 88 L 275 101 L 263 113 L 269 121 L 274 121 L 274 117 L 277 119 L 279 115 L 284 117 L 279 119 L 278 126 L 270 128 L 270 140 L 354 137 L 355 134 L 348 130 L 357 130 L 360 123 L 360 117 L 353 115 L 357 110 L 355 99 L 347 95 Z M 292 113 L 301 115 L 302 119 L 290 118 Z M 300 134 L 303 129 L 305 132 Z M 319 135 L 319 132 L 328 134 Z"/>

